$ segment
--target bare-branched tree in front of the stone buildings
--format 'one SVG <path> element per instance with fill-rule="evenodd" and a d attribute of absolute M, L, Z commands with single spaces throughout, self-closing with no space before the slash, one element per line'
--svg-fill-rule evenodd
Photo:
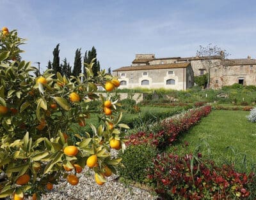
<path fill-rule="evenodd" d="M 207 71 L 207 89 L 210 86 L 210 69 L 216 66 L 223 66 L 224 60 L 230 55 L 226 50 L 222 50 L 217 45 L 211 43 L 207 46 L 200 45 L 200 49 L 196 51 L 196 56 L 200 57 L 202 66 Z"/>

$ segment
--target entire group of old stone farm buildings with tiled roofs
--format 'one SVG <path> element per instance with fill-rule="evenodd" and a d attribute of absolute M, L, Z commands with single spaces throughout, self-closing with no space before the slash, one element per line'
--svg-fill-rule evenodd
<path fill-rule="evenodd" d="M 131 66 L 113 70 L 122 88 L 147 87 L 186 90 L 194 84 L 194 76 L 210 75 L 213 89 L 240 83 L 256 85 L 256 60 L 209 57 L 165 57 L 136 54 Z"/>

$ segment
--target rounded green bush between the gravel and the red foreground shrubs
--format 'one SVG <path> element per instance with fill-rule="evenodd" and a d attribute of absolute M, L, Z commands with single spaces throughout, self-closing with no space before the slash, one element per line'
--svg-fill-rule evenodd
<path fill-rule="evenodd" d="M 118 168 L 120 176 L 135 182 L 144 183 L 147 180 L 147 171 L 157 155 L 154 147 L 149 145 L 130 145 L 124 154 L 120 152 L 123 167 Z"/>

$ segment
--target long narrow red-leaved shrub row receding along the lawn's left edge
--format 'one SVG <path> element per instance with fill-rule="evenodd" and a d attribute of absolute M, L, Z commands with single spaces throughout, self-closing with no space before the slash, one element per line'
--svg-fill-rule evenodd
<path fill-rule="evenodd" d="M 171 120 L 164 120 L 161 123 L 161 131 L 156 133 L 137 132 L 129 136 L 126 145 L 140 145 L 148 143 L 157 147 L 164 148 L 170 145 L 177 138 L 178 134 L 198 123 L 202 117 L 207 116 L 211 112 L 211 106 L 204 106 L 188 111 L 185 115 Z"/>

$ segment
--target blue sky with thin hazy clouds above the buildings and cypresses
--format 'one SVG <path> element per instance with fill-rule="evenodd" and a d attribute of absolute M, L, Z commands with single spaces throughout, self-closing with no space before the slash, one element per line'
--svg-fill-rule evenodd
<path fill-rule="evenodd" d="M 254 0 L 0 0 L 0 27 L 16 29 L 22 59 L 41 72 L 60 43 L 60 60 L 74 65 L 95 46 L 102 69 L 130 66 L 135 54 L 191 57 L 209 43 L 228 58 L 256 58 Z"/>

